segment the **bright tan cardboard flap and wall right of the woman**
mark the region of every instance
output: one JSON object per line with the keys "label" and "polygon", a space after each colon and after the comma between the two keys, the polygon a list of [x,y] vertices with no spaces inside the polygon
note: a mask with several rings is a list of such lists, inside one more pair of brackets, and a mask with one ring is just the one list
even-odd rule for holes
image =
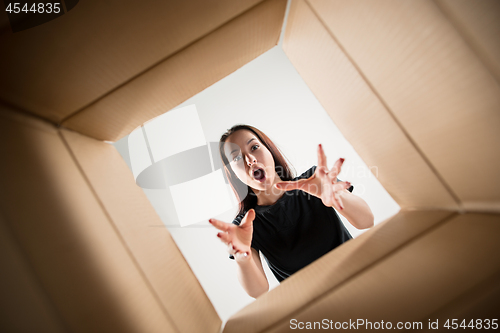
{"label": "bright tan cardboard flap and wall right of the woman", "polygon": [[400,206],[500,211],[500,86],[432,2],[297,1],[284,49]]}

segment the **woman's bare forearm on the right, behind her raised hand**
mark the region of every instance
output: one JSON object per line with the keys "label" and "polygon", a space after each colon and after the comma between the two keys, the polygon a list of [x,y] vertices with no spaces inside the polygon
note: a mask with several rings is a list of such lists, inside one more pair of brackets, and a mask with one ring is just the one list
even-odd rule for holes
{"label": "woman's bare forearm on the right, behind her raised hand", "polygon": [[347,190],[340,192],[344,209],[338,211],[357,229],[370,228],[374,224],[373,213],[368,204]]}

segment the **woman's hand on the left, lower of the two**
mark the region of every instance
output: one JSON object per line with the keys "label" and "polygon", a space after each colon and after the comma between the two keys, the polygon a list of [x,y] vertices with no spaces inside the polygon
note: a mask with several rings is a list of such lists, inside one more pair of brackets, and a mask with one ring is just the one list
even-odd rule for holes
{"label": "woman's hand on the left, lower of the two", "polygon": [[241,220],[239,226],[216,219],[208,221],[221,231],[217,234],[217,237],[223,243],[227,244],[228,252],[234,256],[236,261],[244,262],[250,260],[252,256],[251,244],[254,219],[255,211],[250,209]]}

